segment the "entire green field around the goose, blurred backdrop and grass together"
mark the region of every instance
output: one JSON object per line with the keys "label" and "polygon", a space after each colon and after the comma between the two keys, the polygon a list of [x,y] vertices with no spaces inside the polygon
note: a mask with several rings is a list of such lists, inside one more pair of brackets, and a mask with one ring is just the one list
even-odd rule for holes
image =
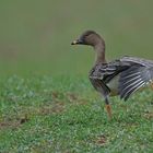
{"label": "entire green field around the goose, blurred backdrop and grass together", "polygon": [[152,153],[153,90],[103,98],[87,79],[94,51],[71,46],[84,30],[107,59],[153,59],[151,0],[0,2],[0,153]]}

